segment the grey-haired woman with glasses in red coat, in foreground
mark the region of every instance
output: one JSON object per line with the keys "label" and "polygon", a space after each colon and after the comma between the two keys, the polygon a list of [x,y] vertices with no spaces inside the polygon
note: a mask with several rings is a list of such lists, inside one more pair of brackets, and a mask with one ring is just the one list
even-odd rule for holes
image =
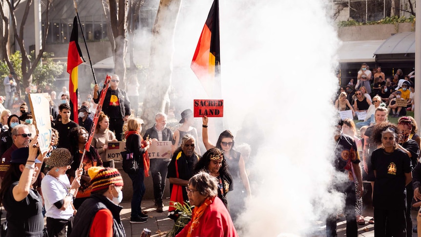
{"label": "grey-haired woman with glasses in red coat, in foreground", "polygon": [[218,195],[216,178],[199,172],[186,187],[191,206],[194,206],[190,222],[176,237],[238,237],[230,214]]}

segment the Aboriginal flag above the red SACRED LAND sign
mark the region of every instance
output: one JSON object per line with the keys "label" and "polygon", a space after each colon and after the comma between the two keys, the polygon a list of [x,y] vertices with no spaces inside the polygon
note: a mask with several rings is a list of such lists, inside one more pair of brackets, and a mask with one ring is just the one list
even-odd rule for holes
{"label": "Aboriginal flag above the red SACRED LAND sign", "polygon": [[214,0],[190,65],[209,95],[220,74],[219,53],[219,3]]}

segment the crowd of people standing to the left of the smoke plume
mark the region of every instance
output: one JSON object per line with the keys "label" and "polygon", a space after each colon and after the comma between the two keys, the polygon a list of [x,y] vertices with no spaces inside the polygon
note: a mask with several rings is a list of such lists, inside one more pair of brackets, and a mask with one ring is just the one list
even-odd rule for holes
{"label": "crowd of people standing to the left of the smoke plume", "polygon": [[[7,211],[7,223],[3,223],[8,227],[7,236],[125,236],[119,206],[123,178],[115,169],[116,161],[105,156],[109,142],[122,140],[138,165],[136,173],[128,173],[133,190],[131,223],[148,219],[141,210],[146,192],[153,192],[156,212],[163,212],[168,178],[171,201],[193,207],[191,222],[174,236],[208,232],[238,236],[232,220],[251,195],[246,161],[252,150],[243,143],[236,151],[231,131],[223,131],[213,145],[208,137],[209,119],[204,117],[201,134],[207,151],[201,152],[197,129],[192,127],[193,112],[186,109],[178,129],[169,129],[167,115],[157,112],[155,124],[143,132],[145,123],[136,116],[137,106],[130,107],[130,100],[137,103],[135,91],[127,94],[118,87],[119,77],[113,75],[89,148],[86,143],[102,93],[100,86],[94,85],[87,100],[78,105],[78,115],[72,114],[66,87],[58,95],[49,86],[38,88],[37,93],[48,93],[52,127],[49,151],[40,153],[29,107],[31,88],[21,98],[14,76],[11,72],[4,79],[6,96],[0,97],[0,202]],[[147,151],[158,141],[171,142],[172,158],[149,159]],[[146,190],[144,183],[149,173],[153,190]],[[168,216],[175,221],[179,215],[169,208]]]}

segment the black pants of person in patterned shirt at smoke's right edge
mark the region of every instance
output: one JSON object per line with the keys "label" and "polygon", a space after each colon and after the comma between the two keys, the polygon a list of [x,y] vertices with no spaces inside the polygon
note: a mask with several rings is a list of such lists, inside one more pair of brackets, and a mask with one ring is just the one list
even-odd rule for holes
{"label": "black pants of person in patterned shirt at smoke's right edge", "polygon": [[[358,236],[358,227],[357,227],[357,218],[355,216],[355,184],[354,182],[347,182],[340,187],[336,187],[338,192],[345,194],[345,208],[344,214],[346,218],[346,236],[347,237],[357,237]],[[377,219],[376,219],[377,223]],[[336,237],[336,214],[330,215],[326,218],[326,236],[327,237]]]}

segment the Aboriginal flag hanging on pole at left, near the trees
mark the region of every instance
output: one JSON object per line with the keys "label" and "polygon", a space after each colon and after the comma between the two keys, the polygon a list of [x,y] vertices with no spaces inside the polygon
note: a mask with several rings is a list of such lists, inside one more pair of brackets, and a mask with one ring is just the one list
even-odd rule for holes
{"label": "Aboriginal flag hanging on pole at left, near the trees", "polygon": [[[78,43],[78,19],[73,19],[73,29],[70,35],[69,51],[67,53],[67,73],[70,74],[69,97],[71,115],[77,119],[78,114],[78,65],[82,64],[82,52]],[[74,119],[72,119],[74,120]]]}

